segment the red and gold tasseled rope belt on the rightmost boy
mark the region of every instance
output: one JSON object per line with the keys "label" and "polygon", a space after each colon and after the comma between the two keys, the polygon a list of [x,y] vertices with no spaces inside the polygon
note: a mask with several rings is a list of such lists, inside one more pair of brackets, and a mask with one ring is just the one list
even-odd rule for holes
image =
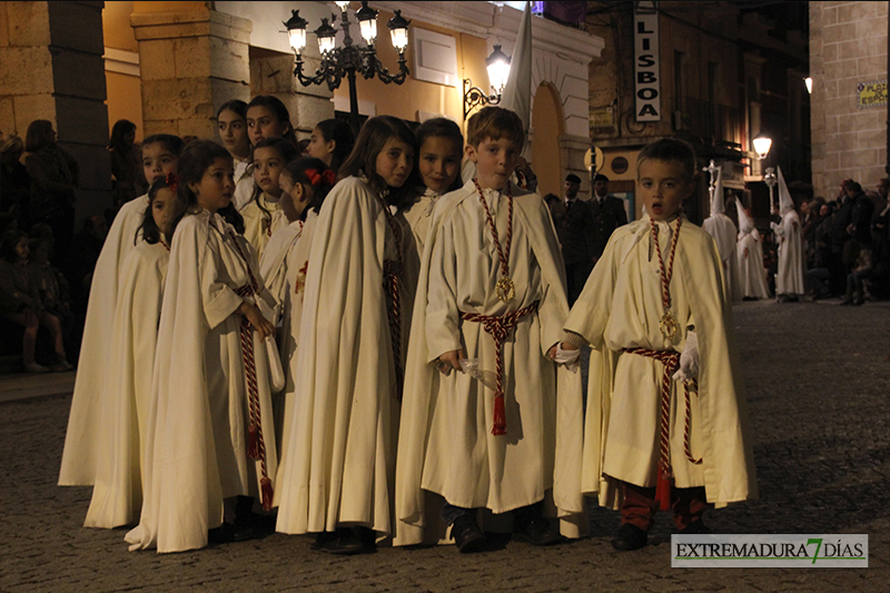
{"label": "red and gold tasseled rope belt on the rightmost boy", "polygon": [[[680,368],[680,353],[673,350],[650,350],[646,348],[624,348],[624,352],[654,358],[664,365],[664,373],[661,377],[661,455],[659,456],[659,477],[655,486],[655,500],[661,502],[662,511],[668,511],[671,508],[671,478],[673,477],[671,471],[671,380],[673,374]],[[694,384],[694,382],[692,383]],[[686,423],[683,434],[683,448],[686,458],[691,463],[699,465],[702,463],[702,459],[701,457],[696,459],[692,456],[689,444],[692,429],[689,383],[683,384],[683,391],[686,397]]]}

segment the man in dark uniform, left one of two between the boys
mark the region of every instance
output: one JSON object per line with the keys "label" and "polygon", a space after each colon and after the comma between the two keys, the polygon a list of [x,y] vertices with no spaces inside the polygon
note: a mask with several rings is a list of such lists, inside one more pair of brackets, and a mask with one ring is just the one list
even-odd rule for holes
{"label": "man in dark uniform, left one of two between the boys", "polygon": [[590,202],[577,198],[581,187],[578,176],[568,174],[563,184],[564,195],[551,205],[556,236],[563,249],[568,305],[574,304],[593,270],[591,257],[593,213]]}

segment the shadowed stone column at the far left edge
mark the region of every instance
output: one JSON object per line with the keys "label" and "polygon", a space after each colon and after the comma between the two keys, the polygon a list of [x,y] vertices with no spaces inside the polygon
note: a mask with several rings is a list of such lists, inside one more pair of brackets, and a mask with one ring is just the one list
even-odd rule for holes
{"label": "shadowed stone column at the far left edge", "polygon": [[78,161],[77,221],[111,205],[102,2],[0,2],[0,130],[52,121]]}

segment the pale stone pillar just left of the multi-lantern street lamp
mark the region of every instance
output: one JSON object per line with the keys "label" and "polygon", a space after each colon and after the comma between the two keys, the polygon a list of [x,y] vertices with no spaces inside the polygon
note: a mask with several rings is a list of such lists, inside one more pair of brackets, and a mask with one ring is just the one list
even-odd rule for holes
{"label": "pale stone pillar just left of the multi-lantern street lamp", "polygon": [[182,2],[180,12],[139,12],[138,4],[150,2],[137,3],[130,17],[139,42],[146,136],[215,138],[219,106],[250,100],[253,23],[204,8],[205,2]]}

